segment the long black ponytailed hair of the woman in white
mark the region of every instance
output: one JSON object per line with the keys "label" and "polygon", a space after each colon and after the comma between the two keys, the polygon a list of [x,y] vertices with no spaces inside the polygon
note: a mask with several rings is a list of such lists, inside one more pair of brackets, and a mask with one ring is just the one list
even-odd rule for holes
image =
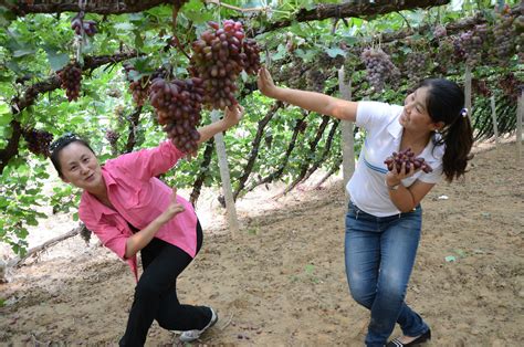
{"label": "long black ponytailed hair of the woman in white", "polygon": [[428,87],[426,106],[431,119],[444,124],[434,144],[446,145],[443,174],[451,182],[464,175],[473,146],[473,129],[468,109],[463,108],[464,93],[457,83],[444,78],[425,80],[419,87]]}

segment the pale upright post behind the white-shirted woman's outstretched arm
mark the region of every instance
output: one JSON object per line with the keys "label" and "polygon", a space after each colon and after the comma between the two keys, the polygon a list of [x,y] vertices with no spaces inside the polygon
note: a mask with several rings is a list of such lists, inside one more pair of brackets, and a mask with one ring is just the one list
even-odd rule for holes
{"label": "pale upright post behind the white-shirted woman's outstretched arm", "polygon": [[[346,101],[352,99],[352,80],[349,78],[346,84],[344,65],[338,70],[338,87],[340,90],[342,98]],[[349,120],[342,122],[342,144],[343,144],[343,175],[344,175],[344,190],[346,191],[346,198],[349,199],[349,194],[346,190],[346,185],[355,172],[355,138],[354,124]]]}

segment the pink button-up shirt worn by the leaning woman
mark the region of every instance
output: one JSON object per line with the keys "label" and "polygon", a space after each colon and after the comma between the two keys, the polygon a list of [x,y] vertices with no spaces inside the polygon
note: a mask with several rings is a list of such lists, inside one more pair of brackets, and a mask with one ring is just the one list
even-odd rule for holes
{"label": "pink button-up shirt worn by the leaning woman", "polygon": [[[125,260],[126,241],[133,235],[127,222],[144,229],[169,204],[171,188],[155,176],[169,170],[185,154],[171,141],[107,160],[102,176],[107,197],[115,209],[103,204],[87,191],[82,193],[80,219],[101,242]],[[197,215],[191,203],[177,196],[186,210],[164,224],[155,238],[174,244],[191,257],[197,249]],[[136,255],[127,260],[138,281]]]}

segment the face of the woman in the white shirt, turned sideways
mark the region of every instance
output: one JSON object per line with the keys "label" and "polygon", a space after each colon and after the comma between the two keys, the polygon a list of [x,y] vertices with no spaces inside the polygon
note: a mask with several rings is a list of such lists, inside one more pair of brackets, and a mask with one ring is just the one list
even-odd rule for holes
{"label": "face of the woman in the white shirt, turned sideways", "polygon": [[420,87],[409,94],[404,102],[404,112],[399,123],[402,127],[413,132],[433,132],[438,125],[429,116],[426,106],[428,87]]}

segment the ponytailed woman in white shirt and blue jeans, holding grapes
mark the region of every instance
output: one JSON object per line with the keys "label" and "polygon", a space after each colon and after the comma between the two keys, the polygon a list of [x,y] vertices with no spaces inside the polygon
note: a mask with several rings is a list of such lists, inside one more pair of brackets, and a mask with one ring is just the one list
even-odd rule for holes
{"label": "ponytailed woman in white shirt and blue jeans, holding grapes", "polygon": [[[277,87],[264,67],[258,83],[269,97],[366,129],[347,185],[345,240],[352,296],[371,314],[366,346],[413,346],[430,339],[429,326],[405,297],[422,225],[420,201],[442,174],[452,181],[465,172],[473,135],[462,90],[448,80],[426,80],[398,106]],[[384,160],[407,148],[433,170],[423,172],[406,164],[397,170],[395,164],[389,171]],[[388,343],[395,323],[404,336]]]}

